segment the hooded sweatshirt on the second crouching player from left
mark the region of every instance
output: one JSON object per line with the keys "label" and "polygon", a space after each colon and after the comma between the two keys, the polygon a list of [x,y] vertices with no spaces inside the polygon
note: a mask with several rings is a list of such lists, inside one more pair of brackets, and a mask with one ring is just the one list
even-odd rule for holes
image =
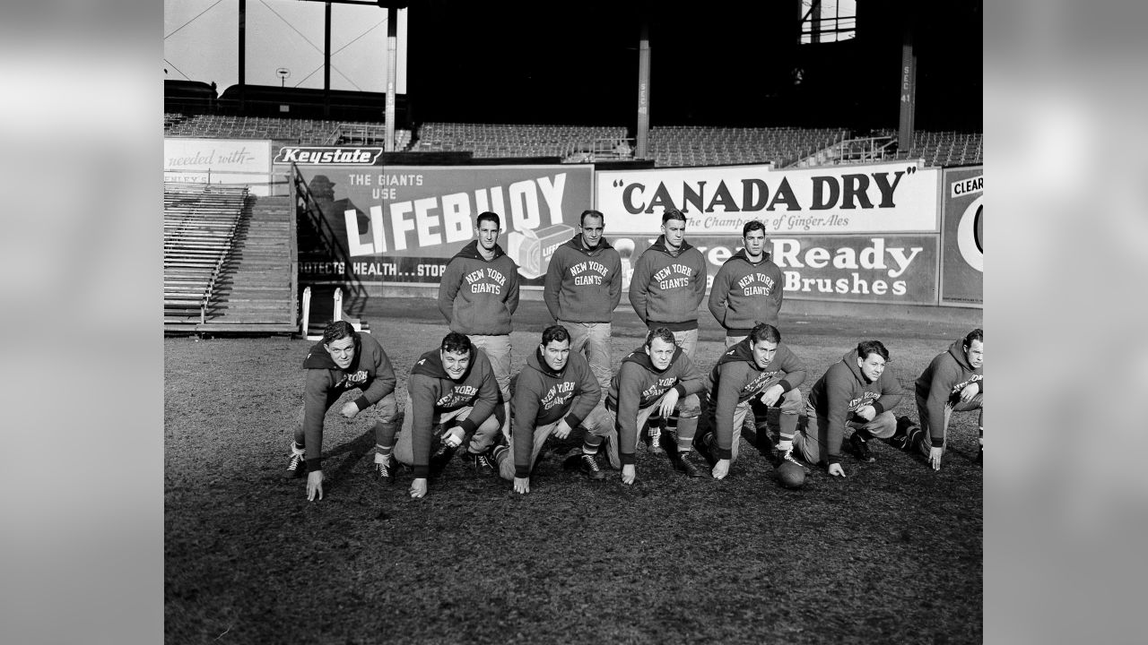
{"label": "hooded sweatshirt on the second crouching player from left", "polygon": [[406,391],[411,395],[413,409],[406,413],[412,415],[411,442],[417,479],[429,474],[430,435],[435,414],[473,405],[474,410],[458,422],[466,434],[471,434],[502,402],[490,359],[479,348],[471,348],[471,363],[457,381],[443,368],[440,350],[433,349],[424,353],[411,367]]}

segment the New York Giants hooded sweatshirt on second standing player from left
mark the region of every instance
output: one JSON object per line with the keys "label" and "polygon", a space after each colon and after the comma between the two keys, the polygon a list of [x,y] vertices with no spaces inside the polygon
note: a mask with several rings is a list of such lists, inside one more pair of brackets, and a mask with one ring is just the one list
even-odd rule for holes
{"label": "New York Giants hooded sweatshirt on second standing player from left", "polygon": [[610,322],[622,298],[622,258],[605,238],[588,249],[575,234],[554,250],[542,298],[554,320]]}

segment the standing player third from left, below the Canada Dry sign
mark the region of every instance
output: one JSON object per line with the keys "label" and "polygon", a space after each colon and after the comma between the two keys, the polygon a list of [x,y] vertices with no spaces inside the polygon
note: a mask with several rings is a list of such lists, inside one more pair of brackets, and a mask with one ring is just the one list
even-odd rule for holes
{"label": "standing player third from left, below the Canada Dry sign", "polygon": [[[693,359],[698,344],[698,305],[706,295],[707,264],[701,251],[685,241],[685,215],[677,209],[661,215],[661,235],[634,264],[630,305],[647,329],[666,327],[677,347]],[[682,419],[697,428],[701,413],[697,395],[678,404]],[[681,421],[680,421],[681,422]],[[650,429],[650,446],[657,450],[658,432]]]}

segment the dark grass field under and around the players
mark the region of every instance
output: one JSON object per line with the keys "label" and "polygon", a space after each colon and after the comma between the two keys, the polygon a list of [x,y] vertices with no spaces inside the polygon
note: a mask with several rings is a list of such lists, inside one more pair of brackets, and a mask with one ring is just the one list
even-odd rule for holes
{"label": "dark grass field under and around the players", "polygon": [[[365,318],[405,391],[447,326],[422,300]],[[813,382],[859,340],[890,349],[908,389],[978,325],[799,319],[783,340]],[[388,312],[401,312],[397,313]],[[614,363],[642,342],[615,312]],[[721,332],[703,311],[697,358]],[[517,373],[546,324],[515,314]],[[168,643],[979,643],[982,469],[976,417],[954,414],[940,472],[871,442],[847,477],[783,489],[743,437],[724,481],[688,480],[639,448],[638,482],[567,471],[552,451],[530,494],[456,459],[421,500],[370,473],[370,423],[332,411],[321,502],[286,480],[311,341],[164,340],[164,631]],[[847,442],[846,442],[847,445]]]}

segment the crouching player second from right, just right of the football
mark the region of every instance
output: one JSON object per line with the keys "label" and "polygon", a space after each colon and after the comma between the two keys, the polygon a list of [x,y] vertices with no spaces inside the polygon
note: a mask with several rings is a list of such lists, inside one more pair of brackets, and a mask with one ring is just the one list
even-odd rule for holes
{"label": "crouching player second from right, just right of the football", "polygon": [[806,427],[793,437],[793,448],[806,461],[824,464],[830,475],[844,477],[845,426],[854,428],[850,443],[858,459],[875,460],[867,440],[893,436],[893,409],[902,395],[887,362],[889,350],[881,341],[862,341],[817,379],[809,390]]}

